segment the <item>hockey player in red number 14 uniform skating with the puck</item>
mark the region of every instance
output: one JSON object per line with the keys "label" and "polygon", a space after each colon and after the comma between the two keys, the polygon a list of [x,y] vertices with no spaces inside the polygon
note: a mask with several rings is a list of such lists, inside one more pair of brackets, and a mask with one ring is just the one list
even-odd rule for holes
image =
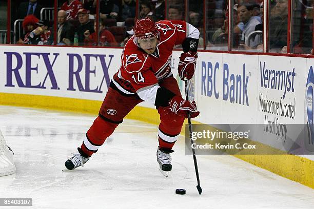
{"label": "hockey player in red number 14 uniform skating with the puck", "polygon": [[99,116],[81,148],[77,148],[78,154],[65,162],[68,170],[83,166],[138,103],[149,101],[156,106],[161,120],[157,161],[161,172],[171,171],[169,153],[173,152],[184,118],[188,113],[191,118],[200,114],[195,101],[182,98],[170,68],[174,46],[182,45],[178,72],[182,80],[191,79],[198,58],[199,30],[181,20],[154,23],[145,18],[136,20],[134,34],[124,47],[122,65],[113,75]]}

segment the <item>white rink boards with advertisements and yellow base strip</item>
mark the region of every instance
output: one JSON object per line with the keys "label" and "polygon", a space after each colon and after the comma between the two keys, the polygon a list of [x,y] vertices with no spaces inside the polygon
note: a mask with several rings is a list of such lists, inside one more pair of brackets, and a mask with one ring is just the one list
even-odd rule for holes
{"label": "white rink boards with advertisements and yellow base strip", "polygon": [[[2,105],[96,114],[112,75],[121,65],[122,49],[0,48]],[[180,53],[173,52],[171,68],[174,77],[178,77],[176,69]],[[191,82],[192,97],[201,112],[195,122],[248,126],[265,121],[306,124],[312,121],[310,116],[314,112],[308,111],[312,103],[310,83],[314,82],[308,76],[313,66],[314,60],[304,57],[199,52],[197,70]],[[180,79],[178,82],[184,95],[184,83]],[[285,109],[265,108],[269,103]],[[159,121],[154,107],[145,102],[128,117],[153,123]],[[270,149],[283,150],[287,146],[288,141],[275,134],[265,136],[260,142],[269,145]],[[237,157],[314,187],[314,157],[307,154]]]}

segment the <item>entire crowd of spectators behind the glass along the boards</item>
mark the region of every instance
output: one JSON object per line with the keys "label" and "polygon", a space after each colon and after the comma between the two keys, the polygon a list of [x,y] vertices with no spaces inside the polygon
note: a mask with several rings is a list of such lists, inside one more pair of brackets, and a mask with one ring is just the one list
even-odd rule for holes
{"label": "entire crowd of spectators behind the glass along the boards", "polygon": [[[262,51],[263,0],[234,0],[232,12],[229,12],[227,0],[206,0],[205,9],[203,0],[190,0],[188,5],[184,5],[184,2],[169,0],[166,5],[164,0],[140,0],[136,13],[135,0],[99,0],[97,35],[94,21],[96,0],[60,0],[56,34],[52,20],[40,19],[41,9],[49,5],[41,5],[44,1],[40,0],[24,1],[15,4],[15,19],[24,19],[24,34],[18,37],[17,44],[51,45],[56,36],[57,45],[123,47],[133,35],[132,27],[137,15],[136,18],[149,17],[155,22],[164,19],[186,20],[200,30],[200,48],[226,50],[228,14],[231,13],[232,49]],[[291,51],[311,53],[313,0],[292,0],[292,9]],[[287,29],[288,0],[269,0],[270,52],[287,52]]]}

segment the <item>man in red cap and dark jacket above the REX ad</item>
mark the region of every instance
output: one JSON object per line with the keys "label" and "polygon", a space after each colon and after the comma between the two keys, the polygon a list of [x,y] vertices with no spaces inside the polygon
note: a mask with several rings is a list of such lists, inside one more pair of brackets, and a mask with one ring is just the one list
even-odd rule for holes
{"label": "man in red cap and dark jacket above the REX ad", "polygon": [[78,45],[82,46],[84,44],[84,33],[89,31],[89,33],[93,33],[94,24],[89,20],[89,11],[86,9],[80,9],[77,12],[78,22],[80,22],[80,26],[77,27],[76,33],[78,35]]}

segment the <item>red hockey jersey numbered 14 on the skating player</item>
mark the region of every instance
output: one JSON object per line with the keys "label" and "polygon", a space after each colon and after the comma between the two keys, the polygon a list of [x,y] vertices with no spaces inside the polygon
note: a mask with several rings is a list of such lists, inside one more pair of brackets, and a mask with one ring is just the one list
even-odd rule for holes
{"label": "red hockey jersey numbered 14 on the skating player", "polygon": [[187,37],[187,23],[181,20],[162,20],[156,23],[160,41],[153,54],[147,54],[132,36],[124,47],[119,71],[113,76],[114,85],[126,94],[156,85],[163,78],[172,75],[170,61],[172,50],[182,45]]}

